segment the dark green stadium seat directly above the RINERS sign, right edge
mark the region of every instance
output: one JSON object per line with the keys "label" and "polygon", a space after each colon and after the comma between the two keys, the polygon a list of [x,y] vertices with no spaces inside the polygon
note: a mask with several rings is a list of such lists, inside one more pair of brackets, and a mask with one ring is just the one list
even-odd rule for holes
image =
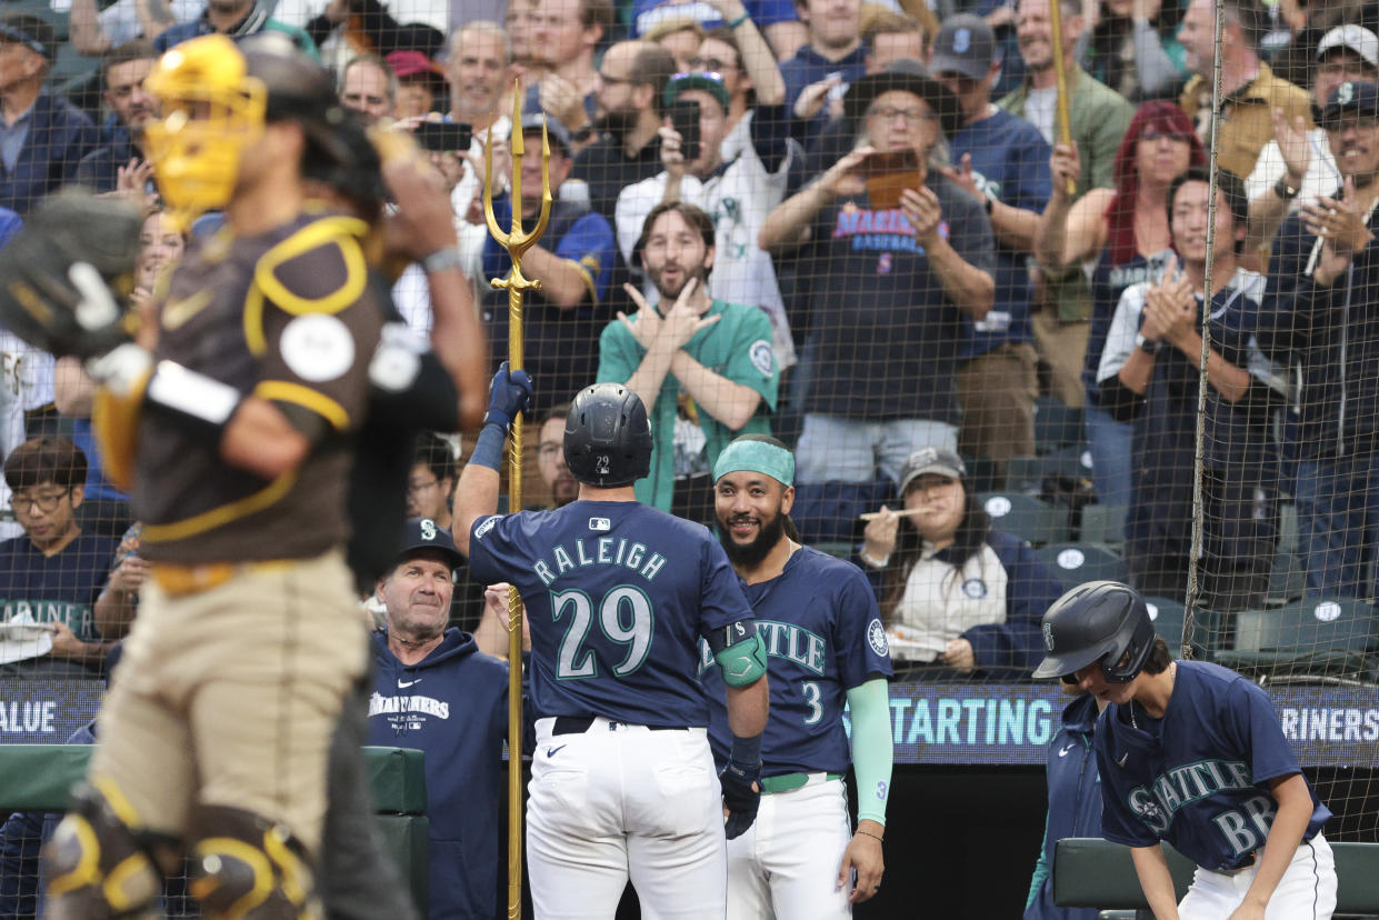
{"label": "dark green stadium seat directly above the RINERS sign, right edge", "polygon": [[1373,681],[1375,608],[1354,599],[1305,599],[1234,617],[1234,641],[1215,659],[1252,677],[1288,683]]}

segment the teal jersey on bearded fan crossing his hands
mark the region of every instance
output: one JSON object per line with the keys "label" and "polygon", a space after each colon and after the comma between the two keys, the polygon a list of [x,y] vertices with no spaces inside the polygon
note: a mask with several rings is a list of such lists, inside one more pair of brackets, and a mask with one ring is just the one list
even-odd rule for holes
{"label": "teal jersey on bearded fan crossing his hands", "polygon": [[[666,302],[666,301],[662,301]],[[656,309],[656,308],[643,308]],[[705,434],[709,469],[718,454],[738,434],[769,434],[767,414],[775,411],[776,388],[781,374],[771,354],[771,323],[756,306],[713,301],[705,319],[720,316],[717,323],[695,332],[684,350],[709,371],[734,383],[749,386],[761,394],[756,414],[738,430],[705,411],[698,410],[699,428]],[[622,321],[610,323],[598,339],[600,383],[626,383],[641,367],[647,349]],[[684,389],[674,372],[667,372],[651,406],[651,474],[637,480],[637,501],[661,510],[670,510],[674,495],[674,428],[680,393]],[[645,396],[643,396],[645,399]]]}

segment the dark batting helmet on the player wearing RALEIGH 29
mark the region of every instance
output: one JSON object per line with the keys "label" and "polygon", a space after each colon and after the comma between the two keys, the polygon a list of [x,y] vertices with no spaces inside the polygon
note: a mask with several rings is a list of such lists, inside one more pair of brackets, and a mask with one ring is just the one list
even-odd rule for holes
{"label": "dark batting helmet on the player wearing RALEIGH 29", "polygon": [[627,486],[651,472],[651,422],[621,383],[585,388],[565,417],[565,466],[581,483]]}

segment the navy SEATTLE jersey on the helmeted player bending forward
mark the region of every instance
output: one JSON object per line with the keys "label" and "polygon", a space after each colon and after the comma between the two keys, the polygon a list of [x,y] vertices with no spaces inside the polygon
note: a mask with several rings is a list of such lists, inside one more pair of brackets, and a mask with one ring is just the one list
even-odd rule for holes
{"label": "navy SEATTLE jersey on the helmeted player bending forward", "polygon": [[[1269,781],[1300,774],[1265,691],[1233,670],[1178,662],[1162,719],[1111,703],[1096,723],[1102,834],[1131,847],[1167,840],[1204,869],[1234,869],[1265,846]],[[1331,811],[1311,793],[1311,840]]]}

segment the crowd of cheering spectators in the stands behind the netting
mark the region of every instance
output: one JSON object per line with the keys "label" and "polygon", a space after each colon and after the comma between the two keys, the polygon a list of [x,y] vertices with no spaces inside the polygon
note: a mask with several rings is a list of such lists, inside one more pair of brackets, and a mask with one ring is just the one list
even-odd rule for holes
{"label": "crowd of cheering spectators in the stands behind the netting", "polygon": [[[1125,509],[1103,539],[1140,590],[1182,600],[1196,566],[1196,603],[1259,608],[1288,530],[1310,594],[1379,597],[1372,4],[8,6],[0,246],[65,186],[125,197],[148,215],[131,297],[149,314],[218,228],[164,223],[145,146],[143,77],[189,37],[281,32],[335,72],[345,106],[414,134],[445,179],[495,366],[507,294],[488,281],[512,261],[485,197],[499,226],[531,226],[545,172],[554,203],[523,261],[541,281],[524,335],[536,505],[574,498],[560,419],[594,381],[648,407],[638,498],[691,520],[713,521],[728,440],[772,433],[797,454],[803,538],[869,572],[896,650],[1019,673],[1076,575],[979,497],[1048,452],[1040,414],[1063,407],[1095,503]],[[393,298],[429,330],[419,266]],[[0,669],[92,669],[132,617],[137,524],[81,368],[4,332],[0,353],[0,619],[52,623],[28,640],[41,654],[0,643]],[[410,514],[450,526],[459,457],[454,436],[418,444]],[[455,619],[492,626],[487,596],[458,588]]]}

